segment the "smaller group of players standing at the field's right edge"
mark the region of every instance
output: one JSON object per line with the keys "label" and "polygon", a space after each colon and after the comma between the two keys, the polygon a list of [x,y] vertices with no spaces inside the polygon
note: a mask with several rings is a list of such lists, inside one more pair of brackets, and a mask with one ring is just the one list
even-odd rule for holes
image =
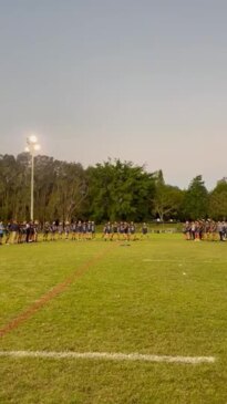
{"label": "smaller group of players standing at the field's right edge", "polygon": [[183,229],[186,240],[227,240],[227,221],[215,221],[211,219],[186,221]]}

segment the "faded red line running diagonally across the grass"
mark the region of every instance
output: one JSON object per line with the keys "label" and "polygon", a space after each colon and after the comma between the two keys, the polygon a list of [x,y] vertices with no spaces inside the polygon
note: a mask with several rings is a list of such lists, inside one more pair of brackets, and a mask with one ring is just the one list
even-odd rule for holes
{"label": "faded red line running diagonally across the grass", "polygon": [[56,296],[63,293],[63,291],[69,288],[76,279],[81,278],[91,267],[93,267],[97,261],[100,261],[111,249],[112,247],[109,247],[107,249],[102,251],[102,253],[99,253],[95,257],[92,257],[87,262],[83,263],[81,267],[79,267],[69,278],[66,278],[63,282],[58,283],[55,287],[53,287],[51,290],[49,290],[45,294],[43,294],[40,299],[38,299],[33,304],[31,304],[25,311],[20,313],[18,317],[16,317],[13,320],[11,320],[9,323],[3,325],[0,329],[0,336],[4,336],[10,331],[16,330],[21,323],[29,320],[38,310],[40,310],[43,305],[49,303],[52,299],[54,299]]}

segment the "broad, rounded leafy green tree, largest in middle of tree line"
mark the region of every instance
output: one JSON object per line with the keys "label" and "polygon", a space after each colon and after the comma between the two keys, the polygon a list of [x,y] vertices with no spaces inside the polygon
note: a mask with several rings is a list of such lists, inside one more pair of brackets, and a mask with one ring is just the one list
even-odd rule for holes
{"label": "broad, rounded leafy green tree, largest in middle of tree line", "polygon": [[142,220],[148,217],[154,178],[144,167],[120,159],[87,168],[90,214],[94,219]]}

